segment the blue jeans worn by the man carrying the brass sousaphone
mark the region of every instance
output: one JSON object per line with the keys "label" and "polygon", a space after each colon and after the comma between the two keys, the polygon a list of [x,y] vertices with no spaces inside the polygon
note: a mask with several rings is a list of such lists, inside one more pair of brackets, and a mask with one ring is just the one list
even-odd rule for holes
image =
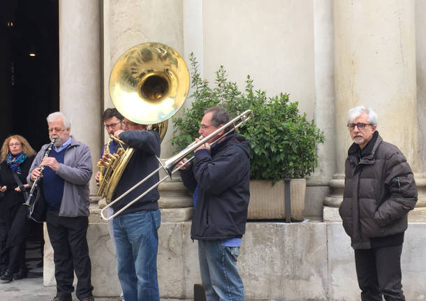
{"label": "blue jeans worn by the man carrying the brass sousaphone", "polygon": [[113,223],[118,278],[124,299],[160,300],[156,267],[160,210],[119,215]]}

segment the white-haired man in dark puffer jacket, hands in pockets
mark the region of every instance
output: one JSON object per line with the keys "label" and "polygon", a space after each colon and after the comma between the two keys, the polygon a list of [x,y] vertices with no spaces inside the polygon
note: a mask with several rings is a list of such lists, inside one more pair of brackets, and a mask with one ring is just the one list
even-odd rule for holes
{"label": "white-haired man in dark puffer jacket, hands in pockets", "polygon": [[402,152],[376,131],[372,109],[349,110],[347,126],[354,143],[345,163],[339,213],[355,249],[361,300],[405,300],[401,252],[407,214],[417,201],[413,172]]}

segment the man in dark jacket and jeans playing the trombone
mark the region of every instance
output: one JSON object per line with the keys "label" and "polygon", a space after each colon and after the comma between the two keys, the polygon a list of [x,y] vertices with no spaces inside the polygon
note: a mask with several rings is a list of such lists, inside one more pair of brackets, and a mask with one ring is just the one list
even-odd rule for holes
{"label": "man in dark jacket and jeans playing the trombone", "polygon": [[[229,120],[223,108],[210,108],[198,133],[207,137]],[[244,300],[237,256],[250,198],[250,149],[244,137],[235,133],[221,137],[225,132],[198,147],[191,166],[184,166],[181,172],[184,185],[194,193],[191,238],[198,240],[201,279],[208,301]],[[218,141],[210,145],[214,140]]]}

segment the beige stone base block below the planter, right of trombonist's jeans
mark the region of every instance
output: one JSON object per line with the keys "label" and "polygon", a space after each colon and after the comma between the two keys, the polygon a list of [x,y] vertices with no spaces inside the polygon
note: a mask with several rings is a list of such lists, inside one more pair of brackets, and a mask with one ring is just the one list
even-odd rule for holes
{"label": "beige stone base block below the planter, right of trombonist's jeans", "polygon": [[326,242],[325,223],[247,223],[238,258],[246,298],[324,300]]}

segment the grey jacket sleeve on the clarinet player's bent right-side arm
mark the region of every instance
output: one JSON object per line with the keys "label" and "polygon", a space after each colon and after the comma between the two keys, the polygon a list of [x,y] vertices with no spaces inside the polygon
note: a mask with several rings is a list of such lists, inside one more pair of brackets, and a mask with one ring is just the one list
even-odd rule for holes
{"label": "grey jacket sleeve on the clarinet player's bent right-side arm", "polygon": [[89,182],[91,178],[91,155],[87,145],[80,144],[78,147],[80,149],[78,149],[78,152],[75,154],[75,166],[59,163],[57,175],[67,182],[71,182],[75,185],[82,185]]}

